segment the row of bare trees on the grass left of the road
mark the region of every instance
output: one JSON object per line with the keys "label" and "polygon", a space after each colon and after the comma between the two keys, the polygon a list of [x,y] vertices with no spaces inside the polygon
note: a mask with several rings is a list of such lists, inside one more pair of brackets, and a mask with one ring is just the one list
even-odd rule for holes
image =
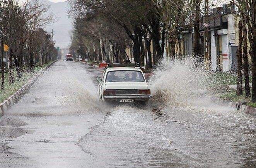
{"label": "row of bare trees on the grass left of the road", "polygon": [[27,0],[22,4],[16,0],[0,0],[0,41],[2,59],[2,83],[4,89],[3,45],[9,46],[9,83],[14,83],[13,65],[17,71],[17,80],[22,78],[23,68],[34,70],[35,63],[47,63],[56,59],[58,52],[54,48],[51,36],[43,27],[54,22],[48,12],[49,6],[39,0]]}

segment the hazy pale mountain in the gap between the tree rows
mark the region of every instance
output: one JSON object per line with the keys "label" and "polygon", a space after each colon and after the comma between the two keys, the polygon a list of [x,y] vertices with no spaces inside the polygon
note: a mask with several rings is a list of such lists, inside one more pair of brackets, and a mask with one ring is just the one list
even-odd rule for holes
{"label": "hazy pale mountain in the gap between the tree rows", "polygon": [[51,34],[53,30],[53,40],[56,47],[68,47],[70,44],[69,32],[72,30],[72,20],[67,16],[67,2],[51,2],[42,0],[45,4],[50,5],[49,12],[56,15],[57,20],[51,25],[47,25],[45,30]]}

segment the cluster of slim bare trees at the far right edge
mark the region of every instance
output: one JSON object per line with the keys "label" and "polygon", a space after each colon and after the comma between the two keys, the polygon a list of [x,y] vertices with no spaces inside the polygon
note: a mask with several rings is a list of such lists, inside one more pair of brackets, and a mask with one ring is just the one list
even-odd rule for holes
{"label": "cluster of slim bare trees at the far right edge", "polygon": [[[242,60],[244,67],[245,93],[246,98],[256,102],[256,0],[232,0],[240,14],[239,21],[239,46],[237,50],[237,95],[242,95]],[[252,95],[249,86],[248,73],[248,46],[252,61]]]}

